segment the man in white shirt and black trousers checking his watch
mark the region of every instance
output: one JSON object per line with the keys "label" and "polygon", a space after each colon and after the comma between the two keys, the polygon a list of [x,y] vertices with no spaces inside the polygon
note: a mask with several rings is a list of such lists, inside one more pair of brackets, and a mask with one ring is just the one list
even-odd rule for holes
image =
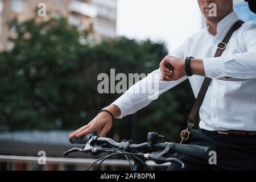
{"label": "man in white shirt and black trousers checking his watch", "polygon": [[[195,97],[204,77],[212,78],[200,107],[200,131],[192,133],[191,143],[212,146],[217,154],[216,169],[256,169],[256,24],[243,23],[233,33],[221,57],[214,57],[218,44],[230,27],[239,20],[233,11],[232,0],[197,0],[204,14],[205,28],[190,36],[171,56],[166,56],[160,68],[151,74],[161,76],[159,94],[189,78]],[[209,5],[217,5],[217,15],[209,15]],[[184,25],[184,28],[189,28]],[[186,76],[185,57],[192,56],[193,76]],[[135,84],[129,90],[138,87]],[[114,118],[135,113],[150,104],[147,94],[126,92],[106,110]],[[98,114],[92,121],[71,133],[70,138],[81,137],[100,131],[104,137],[112,127],[112,115],[107,111]],[[225,131],[246,131],[239,134]],[[180,155],[185,163],[183,170],[212,169],[208,160]],[[170,170],[181,170],[171,164]]]}

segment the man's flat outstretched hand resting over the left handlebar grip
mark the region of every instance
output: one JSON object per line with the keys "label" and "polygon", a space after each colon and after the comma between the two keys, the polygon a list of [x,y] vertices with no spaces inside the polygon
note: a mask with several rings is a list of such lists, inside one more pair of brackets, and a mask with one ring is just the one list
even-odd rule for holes
{"label": "man's flat outstretched hand resting over the left handlebar grip", "polygon": [[[115,118],[120,115],[120,110],[115,105],[110,105],[104,109],[112,112]],[[112,116],[109,113],[102,111],[87,125],[82,126],[80,129],[69,134],[69,138],[80,138],[84,135],[93,133],[94,131],[100,132],[98,135],[99,137],[105,137],[109,130],[112,128],[112,122]]]}

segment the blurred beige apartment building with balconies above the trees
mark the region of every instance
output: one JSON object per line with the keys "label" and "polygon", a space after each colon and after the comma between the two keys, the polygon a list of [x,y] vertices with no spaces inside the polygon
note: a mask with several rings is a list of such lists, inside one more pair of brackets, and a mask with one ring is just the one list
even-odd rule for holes
{"label": "blurred beige apartment building with balconies above the trees", "polygon": [[[46,17],[36,13],[39,3],[46,5]],[[41,19],[64,16],[79,30],[91,32],[96,42],[114,38],[116,8],[116,0],[0,0],[0,50],[12,47],[8,37],[13,30],[9,30],[7,22],[14,17],[22,22],[36,16]]]}

